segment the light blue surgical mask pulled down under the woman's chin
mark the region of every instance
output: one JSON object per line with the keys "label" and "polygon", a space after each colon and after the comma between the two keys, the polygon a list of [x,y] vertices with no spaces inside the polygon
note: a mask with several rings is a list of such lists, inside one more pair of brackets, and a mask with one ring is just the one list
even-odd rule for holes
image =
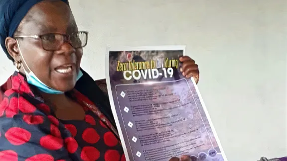
{"label": "light blue surgical mask pulled down under the woman's chin", "polygon": [[[29,73],[25,70],[25,68],[23,67],[24,69],[24,72],[25,72],[25,75],[26,75],[26,79],[28,81],[29,84],[32,84],[34,86],[36,86],[39,90],[41,90],[42,92],[45,92],[45,93],[49,93],[49,94],[63,94],[64,91],[60,91],[60,90],[56,90],[56,89],[53,89],[51,87],[49,87],[48,85],[44,84],[41,80],[39,80],[37,78],[37,76],[29,69],[22,53],[21,53],[21,50],[20,50],[20,46],[19,46],[19,42],[18,40],[17,41],[17,44],[18,44],[18,49],[19,49],[19,52],[20,52],[20,55],[22,57],[22,60],[23,62],[25,63],[25,66],[28,68],[28,70],[30,71]],[[77,76],[77,81],[83,76],[83,73],[82,71],[80,70],[79,73],[78,73],[78,76]]]}

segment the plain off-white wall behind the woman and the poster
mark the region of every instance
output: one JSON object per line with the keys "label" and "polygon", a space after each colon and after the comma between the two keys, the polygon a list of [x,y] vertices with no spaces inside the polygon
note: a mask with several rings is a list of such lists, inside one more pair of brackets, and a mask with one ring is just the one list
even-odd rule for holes
{"label": "plain off-white wall behind the woman and the poster", "polygon": [[[82,67],[105,78],[109,45],[186,45],[229,161],[287,156],[286,0],[70,0],[90,31]],[[0,83],[13,67],[0,54]]]}

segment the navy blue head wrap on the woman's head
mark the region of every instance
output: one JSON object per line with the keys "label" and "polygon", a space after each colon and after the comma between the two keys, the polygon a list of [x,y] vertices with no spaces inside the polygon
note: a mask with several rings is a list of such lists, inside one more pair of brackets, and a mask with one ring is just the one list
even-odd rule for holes
{"label": "navy blue head wrap on the woman's head", "polygon": [[[13,58],[6,49],[5,39],[13,37],[24,16],[40,1],[43,0],[0,0],[0,44],[10,60]],[[68,0],[62,1],[69,5]]]}

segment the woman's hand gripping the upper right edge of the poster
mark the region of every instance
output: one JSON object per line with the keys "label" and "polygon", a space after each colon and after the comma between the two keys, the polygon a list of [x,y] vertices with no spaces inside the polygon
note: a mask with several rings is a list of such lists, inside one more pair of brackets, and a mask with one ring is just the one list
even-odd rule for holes
{"label": "woman's hand gripping the upper right edge of the poster", "polygon": [[197,84],[199,80],[199,70],[198,65],[195,64],[195,61],[189,56],[182,56],[179,58],[179,61],[182,63],[182,66],[180,68],[180,72],[182,73],[182,75],[187,79],[193,77]]}

